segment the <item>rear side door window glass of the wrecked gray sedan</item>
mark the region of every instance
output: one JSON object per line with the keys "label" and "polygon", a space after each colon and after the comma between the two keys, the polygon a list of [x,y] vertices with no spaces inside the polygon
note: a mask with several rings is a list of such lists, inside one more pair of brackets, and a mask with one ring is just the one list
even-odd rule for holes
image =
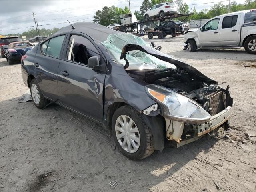
{"label": "rear side door window glass of the wrecked gray sedan", "polygon": [[65,35],[54,37],[42,44],[42,52],[46,55],[60,58],[60,51]]}

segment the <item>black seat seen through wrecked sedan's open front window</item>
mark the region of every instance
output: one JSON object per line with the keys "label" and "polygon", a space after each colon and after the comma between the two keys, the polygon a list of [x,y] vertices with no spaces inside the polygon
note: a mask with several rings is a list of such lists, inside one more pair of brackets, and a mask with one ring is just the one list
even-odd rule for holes
{"label": "black seat seen through wrecked sedan's open front window", "polygon": [[88,64],[88,50],[85,45],[76,43],[73,47],[72,60],[75,62]]}

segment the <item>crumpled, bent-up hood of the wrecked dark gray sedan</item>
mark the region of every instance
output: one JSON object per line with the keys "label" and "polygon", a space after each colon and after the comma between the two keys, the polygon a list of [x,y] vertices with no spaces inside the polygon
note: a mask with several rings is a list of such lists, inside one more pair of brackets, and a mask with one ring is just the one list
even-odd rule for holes
{"label": "crumpled, bent-up hood of the wrecked dark gray sedan", "polygon": [[185,70],[189,74],[192,74],[196,76],[198,79],[208,82],[211,84],[218,84],[215,80],[212,80],[211,78],[208,78],[206,75],[202,74],[200,71],[198,71],[196,68],[186,64],[185,62],[178,60],[168,54],[164,54],[156,49],[152,49],[148,46],[144,45],[136,45],[136,44],[127,44],[122,48],[122,53],[120,56],[120,59],[126,59],[126,53],[128,51],[134,51],[134,50],[140,50],[142,52],[145,52],[147,54],[150,54],[152,56],[155,56],[156,58],[169,62],[171,64],[174,64],[176,67],[180,68],[181,70]]}

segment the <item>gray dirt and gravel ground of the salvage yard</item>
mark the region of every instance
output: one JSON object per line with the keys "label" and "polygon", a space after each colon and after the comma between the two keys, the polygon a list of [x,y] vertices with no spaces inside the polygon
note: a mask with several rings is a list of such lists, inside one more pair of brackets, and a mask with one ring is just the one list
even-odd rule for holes
{"label": "gray dirt and gravel ground of the salvage yard", "polygon": [[229,138],[220,129],[216,138],[129,160],[100,125],[58,105],[18,103],[28,90],[20,64],[0,58],[0,191],[255,192],[256,56],[243,49],[187,52],[182,38],[153,41],[230,85],[236,108]]}

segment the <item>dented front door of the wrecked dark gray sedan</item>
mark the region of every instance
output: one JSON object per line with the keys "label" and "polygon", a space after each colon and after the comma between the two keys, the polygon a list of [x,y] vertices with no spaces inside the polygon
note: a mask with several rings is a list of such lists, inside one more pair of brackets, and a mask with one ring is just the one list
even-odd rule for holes
{"label": "dented front door of the wrecked dark gray sedan", "polygon": [[102,122],[105,74],[88,67],[91,56],[100,58],[93,42],[84,36],[70,36],[66,59],[58,69],[58,102]]}

